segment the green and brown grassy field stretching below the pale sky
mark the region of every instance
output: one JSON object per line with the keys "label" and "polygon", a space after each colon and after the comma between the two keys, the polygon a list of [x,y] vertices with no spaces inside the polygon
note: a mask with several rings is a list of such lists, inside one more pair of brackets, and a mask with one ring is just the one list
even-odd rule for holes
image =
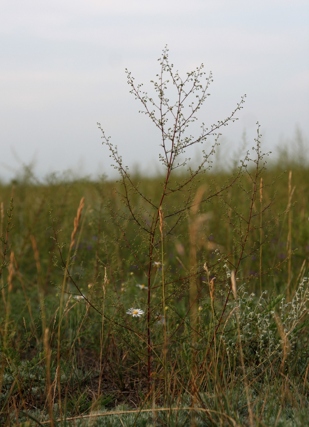
{"label": "green and brown grassy field stretching below the pale sky", "polygon": [[284,166],[171,192],[150,269],[164,178],[130,208],[123,182],[2,184],[1,425],[308,425],[309,168]]}

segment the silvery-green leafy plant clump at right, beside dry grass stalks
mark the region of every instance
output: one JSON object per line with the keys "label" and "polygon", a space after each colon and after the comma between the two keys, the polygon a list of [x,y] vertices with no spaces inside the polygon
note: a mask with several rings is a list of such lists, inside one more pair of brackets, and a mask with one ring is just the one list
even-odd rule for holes
{"label": "silvery-green leafy plant clump at right, beside dry grass stalks", "polygon": [[[229,327],[226,326],[223,333],[226,349],[229,354],[237,351],[236,310],[239,310],[245,360],[254,360],[255,366],[273,361],[281,363],[291,354],[295,345],[299,345],[299,332],[309,323],[305,319],[308,313],[309,280],[303,278],[291,302],[286,302],[285,295],[271,296],[267,301],[267,291],[262,292],[255,301],[255,295],[248,295],[245,289],[246,284],[241,284],[238,301],[229,303]],[[279,315],[274,310],[279,310]],[[255,366],[251,366],[251,369],[255,370]]]}

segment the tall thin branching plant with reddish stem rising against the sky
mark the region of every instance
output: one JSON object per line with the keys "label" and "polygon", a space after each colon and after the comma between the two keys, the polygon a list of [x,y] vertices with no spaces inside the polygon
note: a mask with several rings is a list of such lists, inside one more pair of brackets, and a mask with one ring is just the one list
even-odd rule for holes
{"label": "tall thin branching plant with reddish stem rising against the sky", "polygon": [[[258,214],[260,215],[258,218],[260,218],[261,212],[267,208],[265,206],[262,207],[261,211],[258,213],[255,208],[255,200],[258,193],[258,177],[264,167],[264,164],[261,164],[263,155],[260,152],[259,135],[256,140],[256,157],[250,159],[249,153],[247,153],[238,171],[232,175],[232,178],[230,178],[223,187],[215,187],[215,189],[212,191],[210,190],[208,194],[203,194],[202,197],[199,197],[199,200],[195,199],[196,183],[198,182],[199,175],[204,173],[211,166],[211,155],[214,154],[219,144],[218,138],[220,136],[220,128],[237,120],[235,114],[238,110],[243,108],[246,95],[241,97],[236,108],[226,119],[219,120],[217,123],[208,127],[202,122],[200,134],[193,136],[190,133],[190,126],[197,120],[196,114],[209,96],[208,88],[212,82],[212,74],[209,73],[209,75],[206,76],[205,72],[203,72],[203,64],[201,64],[195,70],[187,72],[185,78],[182,78],[178,71],[175,72],[173,70],[173,65],[169,62],[168,49],[166,47],[159,61],[160,72],[157,74],[157,79],[151,81],[155,91],[155,97],[151,97],[147,92],[143,91],[142,84],[136,85],[134,78],[131,76],[131,72],[126,70],[128,84],[131,87],[131,94],[142,104],[142,110],[140,112],[146,114],[154,126],[160,131],[161,152],[159,156],[160,162],[164,166],[165,173],[160,196],[157,199],[155,199],[154,195],[144,194],[140,189],[140,185],[134,182],[134,178],[131,177],[128,167],[125,167],[123,164],[122,157],[119,155],[117,147],[110,142],[110,137],[105,135],[101,124],[98,123],[99,129],[101,129],[103,134],[103,144],[110,150],[110,157],[113,159],[113,167],[119,171],[120,182],[122,184],[122,190],[118,192],[118,195],[125,208],[117,210],[111,206],[113,219],[116,221],[116,225],[119,227],[121,234],[119,241],[122,240],[122,245],[124,243],[124,246],[128,249],[129,256],[131,255],[132,260],[137,264],[139,269],[143,271],[148,282],[148,296],[146,301],[148,388],[150,388],[152,374],[151,359],[154,346],[151,338],[152,316],[157,318],[158,312],[161,313],[161,310],[162,312],[164,311],[166,315],[166,301],[171,295],[176,295],[175,290],[170,290],[170,292],[166,293],[168,285],[172,283],[175,284],[175,282],[180,284],[188,282],[192,289],[186,315],[181,318],[181,322],[180,324],[178,323],[177,328],[173,331],[169,331],[169,338],[175,334],[182,324],[187,323],[186,318],[194,312],[198,298],[202,295],[202,289],[194,290],[193,284],[191,283],[192,278],[194,281],[196,275],[201,274],[203,270],[203,268],[200,269],[198,266],[193,267],[195,271],[190,271],[186,276],[180,276],[177,280],[170,282],[168,282],[167,276],[162,274],[162,283],[160,283],[160,285],[154,283],[154,276],[157,278],[157,272],[153,268],[154,260],[157,257],[157,252],[160,250],[162,250],[161,255],[163,260],[163,241],[174,238],[177,235],[177,227],[181,224],[181,221],[188,216],[189,212],[192,211],[192,209],[194,210],[194,207],[197,205],[203,207],[205,202],[209,202],[214,197],[220,197],[225,206],[230,224],[236,227],[236,223],[241,223],[242,227],[240,230],[240,242],[234,245],[234,258],[238,257],[238,259],[234,259],[233,262],[231,262],[231,266],[237,271],[241,259],[244,256],[248,235],[253,231],[253,229],[251,229],[251,220]],[[188,151],[192,149],[193,146],[200,146],[209,137],[213,137],[213,142],[208,150],[201,148],[200,163],[194,168],[189,167],[187,169],[186,165],[190,160],[187,157]],[[250,163],[251,160],[256,167],[256,172],[254,173],[250,171],[250,167],[247,164]],[[184,170],[187,169],[187,173],[185,175],[179,175],[177,172],[180,168]],[[251,182],[249,182],[249,189],[245,188],[246,184],[243,182],[244,173],[247,173],[251,180]],[[241,215],[236,208],[232,207],[230,201],[226,199],[226,195],[228,194],[227,190],[236,182],[238,182],[241,189],[245,191],[246,196],[250,198],[249,214],[247,217]],[[172,195],[175,196],[175,193],[179,196],[178,205],[171,206],[169,204],[169,198]],[[136,200],[140,203],[139,207],[137,206]],[[231,209],[231,214],[228,212],[229,208]],[[245,229],[243,229],[243,222],[246,223],[247,228]],[[130,228],[132,233],[128,233],[128,228]],[[130,239],[129,236],[132,234],[134,237]],[[231,255],[232,252],[224,255],[224,259],[231,260]],[[164,272],[163,265],[162,272]],[[163,297],[156,305],[155,297],[157,297],[159,288],[163,291]],[[205,288],[205,286],[203,286],[203,288]],[[215,333],[220,328],[230,290],[231,288],[228,289],[222,313],[217,316],[218,322]],[[205,290],[203,292],[205,292]],[[176,310],[175,307],[173,310]],[[163,321],[167,321],[165,316]],[[164,333],[166,334],[165,325]],[[194,325],[192,328],[196,331]],[[166,348],[166,336],[164,341],[164,347]],[[165,357],[164,360],[166,360]]]}

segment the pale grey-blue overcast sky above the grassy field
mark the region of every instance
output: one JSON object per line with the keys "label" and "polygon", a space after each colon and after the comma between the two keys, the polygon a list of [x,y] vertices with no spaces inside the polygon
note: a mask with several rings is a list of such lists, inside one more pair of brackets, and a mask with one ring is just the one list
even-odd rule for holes
{"label": "pale grey-blue overcast sky above the grassy field", "polygon": [[244,149],[244,132],[254,145],[257,121],[264,151],[293,152],[297,130],[308,151],[308,22],[307,0],[1,2],[0,179],[25,166],[40,179],[113,177],[97,122],[131,172],[160,170],[160,133],[139,114],[125,69],[152,93],[165,45],[181,76],[201,63],[213,73],[198,123],[226,118],[247,95],[221,131],[221,162]]}

